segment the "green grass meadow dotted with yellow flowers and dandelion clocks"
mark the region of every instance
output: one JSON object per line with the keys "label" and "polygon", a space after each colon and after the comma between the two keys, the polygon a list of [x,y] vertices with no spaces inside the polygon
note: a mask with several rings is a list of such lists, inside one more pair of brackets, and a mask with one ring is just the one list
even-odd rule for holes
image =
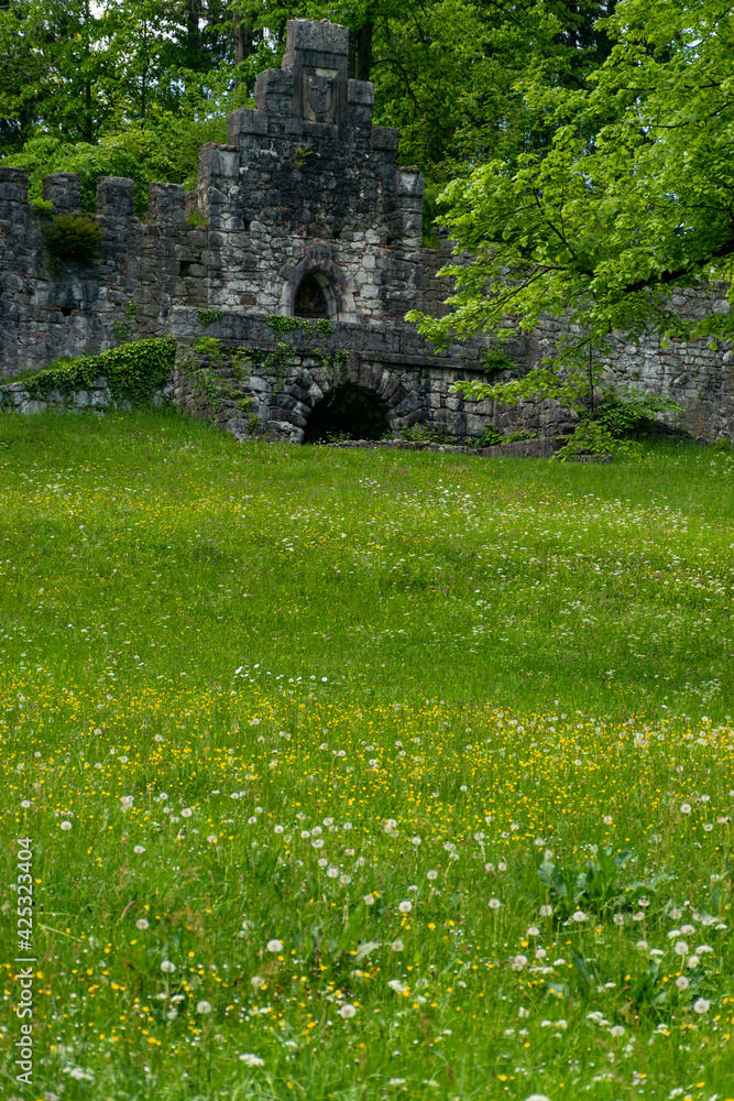
{"label": "green grass meadow dotted with yellow flowers and dandelion clocks", "polygon": [[2,1097],[734,1098],[733,547],[693,445],[0,419]]}

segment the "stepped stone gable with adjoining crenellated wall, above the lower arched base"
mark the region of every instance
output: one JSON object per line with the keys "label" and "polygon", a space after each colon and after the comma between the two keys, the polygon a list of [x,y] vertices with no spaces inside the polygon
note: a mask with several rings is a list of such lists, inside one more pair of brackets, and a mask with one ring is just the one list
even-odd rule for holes
{"label": "stepped stone gable with adjoining crenellated wall, above the lower arched base", "polygon": [[[167,335],[176,305],[293,316],[309,276],[335,321],[407,328],[412,307],[442,308],[446,257],[421,247],[423,176],[395,165],[397,131],[372,124],[373,86],[347,79],[347,43],[344,28],[289,22],[284,67],[259,75],[230,144],[201,149],[193,192],[151,184],[144,220],[131,179],[101,178],[95,263],[52,270],[26,173],[0,166],[0,379],[106,350],[130,303],[134,337]],[[79,177],[46,177],[44,198],[78,211]]]}

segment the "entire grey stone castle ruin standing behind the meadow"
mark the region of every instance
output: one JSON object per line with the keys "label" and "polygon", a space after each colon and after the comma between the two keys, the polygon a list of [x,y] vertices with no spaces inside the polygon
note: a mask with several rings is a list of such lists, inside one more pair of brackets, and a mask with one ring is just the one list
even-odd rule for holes
{"label": "entire grey stone castle ruin standing behind the meadow", "polygon": [[[213,412],[240,437],[308,439],[347,390],[393,433],[420,426],[465,444],[489,426],[569,430],[554,402],[502,410],[454,395],[457,380],[483,375],[486,342],[438,351],[404,320],[409,309],[446,309],[451,288],[438,271],[451,248],[423,247],[423,177],[396,165],[397,131],[373,124],[373,85],[348,78],[348,50],[346,28],[291,21],[282,68],[259,75],[255,107],[230,116],[228,144],[201,149],[197,187],[151,184],[143,219],[131,179],[101,178],[103,242],[92,263],[53,270],[26,174],[0,166],[0,379],[111,348],[121,331],[173,336],[168,392],[208,416],[213,396],[201,377],[213,373]],[[78,211],[79,176],[47,176],[43,197],[55,214]],[[728,308],[721,287],[673,302],[694,314]],[[507,328],[503,351],[521,372],[563,335],[557,318],[527,336]],[[728,346],[664,351],[622,337],[607,371],[620,386],[676,397],[705,439],[734,439],[733,373]],[[102,402],[105,380],[84,401]],[[22,383],[3,392],[30,407]]]}

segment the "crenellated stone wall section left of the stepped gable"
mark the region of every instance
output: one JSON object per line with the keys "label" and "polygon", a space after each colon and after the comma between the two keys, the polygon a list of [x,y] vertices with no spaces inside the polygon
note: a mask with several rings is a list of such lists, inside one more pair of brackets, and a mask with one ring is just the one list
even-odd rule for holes
{"label": "crenellated stone wall section left of the stepped gable", "polygon": [[[76,175],[44,181],[55,212],[78,212],[79,194]],[[54,269],[43,216],[28,201],[28,174],[0,166],[0,379],[113,347],[114,323],[125,324],[130,303],[136,337],[166,336],[174,303],[206,305],[208,235],[185,222],[184,205],[183,187],[153,183],[150,220],[142,222],[133,212],[133,182],[103,177],[97,187],[100,258]]]}

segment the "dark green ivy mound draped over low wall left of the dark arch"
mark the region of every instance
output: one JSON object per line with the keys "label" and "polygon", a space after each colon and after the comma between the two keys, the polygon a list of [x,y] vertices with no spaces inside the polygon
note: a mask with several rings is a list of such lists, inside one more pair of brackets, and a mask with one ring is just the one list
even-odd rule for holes
{"label": "dark green ivy mound draped over low wall left of the dark arch", "polygon": [[134,340],[99,356],[56,360],[23,382],[32,399],[43,401],[54,391],[70,397],[103,378],[114,401],[138,404],[149,402],[166,384],[175,355],[173,337]]}

